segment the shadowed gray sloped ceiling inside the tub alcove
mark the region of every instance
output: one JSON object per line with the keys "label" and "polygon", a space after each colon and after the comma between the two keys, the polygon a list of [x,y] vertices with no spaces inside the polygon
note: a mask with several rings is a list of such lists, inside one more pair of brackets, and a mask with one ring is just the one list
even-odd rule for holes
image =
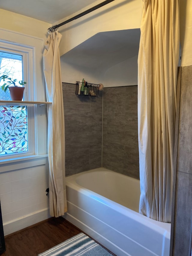
{"label": "shadowed gray sloped ceiling inside the tub alcove", "polygon": [[61,56],[63,62],[82,68],[107,70],[138,55],[140,29],[100,32]]}

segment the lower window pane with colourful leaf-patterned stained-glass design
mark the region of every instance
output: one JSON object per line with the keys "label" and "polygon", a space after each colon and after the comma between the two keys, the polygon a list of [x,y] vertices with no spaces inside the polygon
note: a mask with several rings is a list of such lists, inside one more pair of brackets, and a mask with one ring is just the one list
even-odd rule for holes
{"label": "lower window pane with colourful leaf-patterned stained-glass design", "polygon": [[0,106],[0,155],[28,151],[27,106]]}

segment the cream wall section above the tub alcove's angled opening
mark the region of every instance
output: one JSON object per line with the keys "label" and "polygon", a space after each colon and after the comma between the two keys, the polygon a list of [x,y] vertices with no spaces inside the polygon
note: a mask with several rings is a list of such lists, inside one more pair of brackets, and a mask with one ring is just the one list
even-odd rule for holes
{"label": "cream wall section above the tub alcove's angled opening", "polygon": [[[95,5],[101,3],[100,0],[95,2]],[[82,9],[80,12],[85,11],[93,5]],[[111,2],[102,8],[99,8],[90,14],[67,23],[61,26],[58,30],[62,34],[60,43],[60,55],[73,49],[83,41],[98,32],[135,29],[140,27],[141,21],[141,1],[140,0],[118,0]],[[80,12],[73,14],[73,16]],[[69,18],[59,20],[59,24]]]}

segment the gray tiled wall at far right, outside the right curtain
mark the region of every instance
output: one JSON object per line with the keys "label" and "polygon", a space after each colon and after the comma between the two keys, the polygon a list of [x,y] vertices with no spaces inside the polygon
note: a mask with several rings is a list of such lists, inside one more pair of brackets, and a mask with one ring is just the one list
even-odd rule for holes
{"label": "gray tiled wall at far right, outside the right curtain", "polygon": [[[192,65],[179,67],[181,72],[180,106],[177,101],[178,135],[175,215],[172,216],[173,256],[191,255],[192,247]],[[179,86],[179,85],[178,85]]]}

